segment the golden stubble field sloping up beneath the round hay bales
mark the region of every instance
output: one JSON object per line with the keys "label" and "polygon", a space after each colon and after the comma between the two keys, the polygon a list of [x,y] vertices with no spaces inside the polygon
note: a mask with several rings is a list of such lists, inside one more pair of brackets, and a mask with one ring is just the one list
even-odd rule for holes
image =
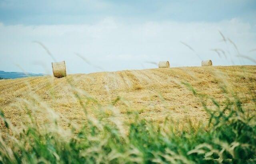
{"label": "golden stubble field sloping up beneath the round hay bales", "polygon": [[[181,82],[217,101],[237,94],[246,109],[256,89],[256,66],[176,67],[72,74],[0,80],[0,108],[14,126],[29,122],[29,114],[41,123],[58,117],[63,127],[86,122],[101,112],[111,118],[132,121],[130,112],[140,118],[162,123],[166,117],[182,122],[206,121],[208,114],[200,100]],[[223,93],[227,86],[229,94]],[[210,99],[207,105],[215,109]],[[52,112],[54,111],[54,113]],[[254,113],[254,111],[249,111]]]}

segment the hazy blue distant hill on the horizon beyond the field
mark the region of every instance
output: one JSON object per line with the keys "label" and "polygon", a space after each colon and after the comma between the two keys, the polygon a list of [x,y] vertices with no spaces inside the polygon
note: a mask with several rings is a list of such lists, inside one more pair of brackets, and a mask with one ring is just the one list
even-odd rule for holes
{"label": "hazy blue distant hill on the horizon beyond the field", "polygon": [[24,73],[24,72],[5,72],[0,71],[0,77],[3,79],[17,79],[21,77],[31,77],[31,76],[44,76],[43,73]]}

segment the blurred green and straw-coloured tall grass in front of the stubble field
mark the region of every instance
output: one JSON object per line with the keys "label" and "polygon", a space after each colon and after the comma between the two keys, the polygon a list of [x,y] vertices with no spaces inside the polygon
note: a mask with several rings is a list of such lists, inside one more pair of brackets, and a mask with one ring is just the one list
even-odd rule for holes
{"label": "blurred green and straw-coloured tall grass in front of the stubble field", "polygon": [[[72,85],[72,84],[70,84]],[[62,128],[54,111],[47,111],[44,104],[34,96],[34,104],[46,110],[49,121],[40,124],[37,113],[26,106],[30,123],[22,127],[13,126],[1,111],[0,163],[256,163],[256,119],[255,90],[250,93],[254,106],[244,109],[238,93],[230,93],[228,86],[221,85],[226,97],[218,102],[212,97],[196,91],[189,83],[182,82],[190,90],[210,116],[208,124],[188,120],[182,125],[170,118],[162,124],[143,119],[138,112],[128,112],[132,123],[123,122],[113,106],[98,115],[88,113],[88,102],[74,89],[86,115],[86,122],[70,123]],[[206,98],[211,99],[214,109],[208,107]],[[120,101],[120,97],[112,105]],[[85,103],[86,102],[86,103]],[[220,105],[220,103],[222,105]],[[224,104],[224,105],[223,105]],[[129,110],[129,109],[127,109]],[[113,114],[114,113],[114,114]]]}

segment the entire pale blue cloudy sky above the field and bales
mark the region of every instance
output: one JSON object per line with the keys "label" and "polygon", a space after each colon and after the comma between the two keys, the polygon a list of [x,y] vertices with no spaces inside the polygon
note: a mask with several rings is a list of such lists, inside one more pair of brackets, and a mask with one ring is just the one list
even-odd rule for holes
{"label": "entire pale blue cloudy sky above the field and bales", "polygon": [[[0,0],[0,70],[255,65],[255,0]],[[253,61],[254,60],[254,61]]]}

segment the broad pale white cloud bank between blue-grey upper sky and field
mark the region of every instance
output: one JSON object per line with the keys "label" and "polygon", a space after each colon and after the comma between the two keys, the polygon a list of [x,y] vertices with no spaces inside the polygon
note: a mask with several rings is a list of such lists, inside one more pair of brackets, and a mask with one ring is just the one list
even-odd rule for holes
{"label": "broad pale white cloud bank between blue-grey upper sky and field", "polygon": [[[214,65],[255,64],[239,59],[231,43],[222,40],[218,30],[229,37],[243,55],[256,48],[255,25],[238,19],[215,23],[173,21],[128,24],[114,18],[106,18],[96,24],[82,25],[9,25],[0,24],[0,70],[20,71],[19,64],[32,73],[46,73],[35,63],[40,61],[51,70],[52,59],[40,45],[48,47],[54,57],[65,60],[69,73],[99,71],[87,65],[74,53],[84,55],[94,65],[101,65],[105,71],[142,69],[155,65],[146,61],[169,60],[171,66],[196,66],[200,59],[193,51],[180,43],[190,45],[201,59],[212,59]],[[219,58],[210,49],[221,48],[229,51],[228,60]]]}

